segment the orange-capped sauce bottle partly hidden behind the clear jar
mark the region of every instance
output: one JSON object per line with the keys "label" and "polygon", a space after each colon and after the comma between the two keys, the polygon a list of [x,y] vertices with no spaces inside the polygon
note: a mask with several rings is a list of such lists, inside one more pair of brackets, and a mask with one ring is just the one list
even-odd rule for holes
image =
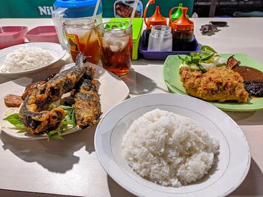
{"label": "orange-capped sauce bottle partly hidden behind the clear jar", "polygon": [[149,17],[148,20],[146,20],[147,10],[148,10],[148,6],[150,5],[150,3],[154,4],[155,0],[149,0],[147,5],[145,6],[145,11],[143,12],[143,18],[145,20],[145,25],[147,26],[146,35],[145,35],[145,43],[143,43],[146,47],[148,47],[151,27],[155,25],[166,25],[166,18],[162,16],[162,14],[160,13],[159,6],[156,6],[153,16]]}

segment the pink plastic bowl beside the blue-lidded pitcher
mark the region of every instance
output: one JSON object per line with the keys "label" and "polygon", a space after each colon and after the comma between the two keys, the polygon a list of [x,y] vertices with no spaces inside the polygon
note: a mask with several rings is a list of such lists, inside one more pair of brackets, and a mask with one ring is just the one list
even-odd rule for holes
{"label": "pink plastic bowl beside the blue-lidded pitcher", "polygon": [[55,26],[38,26],[25,34],[25,37],[29,42],[55,42],[58,41],[58,35],[55,31]]}

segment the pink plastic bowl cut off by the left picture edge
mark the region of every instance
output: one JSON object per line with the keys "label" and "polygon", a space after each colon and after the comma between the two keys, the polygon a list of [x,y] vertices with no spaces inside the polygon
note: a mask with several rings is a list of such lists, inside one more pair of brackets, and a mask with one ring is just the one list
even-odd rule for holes
{"label": "pink plastic bowl cut off by the left picture edge", "polygon": [[0,49],[25,42],[27,27],[4,26],[0,27]]}

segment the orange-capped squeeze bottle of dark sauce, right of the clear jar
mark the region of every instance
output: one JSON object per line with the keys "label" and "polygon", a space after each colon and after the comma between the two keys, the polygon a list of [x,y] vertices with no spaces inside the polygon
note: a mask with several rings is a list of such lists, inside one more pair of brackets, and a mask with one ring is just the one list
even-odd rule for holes
{"label": "orange-capped squeeze bottle of dark sauce, right of the clear jar", "polygon": [[194,22],[186,16],[188,8],[181,7],[182,14],[180,18],[172,21],[171,14],[175,8],[172,8],[169,12],[169,25],[173,34],[173,51],[194,51]]}

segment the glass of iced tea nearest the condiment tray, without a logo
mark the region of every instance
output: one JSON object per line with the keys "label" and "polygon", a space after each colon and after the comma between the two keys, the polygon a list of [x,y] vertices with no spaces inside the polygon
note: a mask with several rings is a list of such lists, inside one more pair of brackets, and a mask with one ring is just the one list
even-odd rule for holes
{"label": "glass of iced tea nearest the condiment tray, without a logo", "polygon": [[103,68],[119,77],[132,66],[132,27],[126,22],[109,22],[97,26]]}

